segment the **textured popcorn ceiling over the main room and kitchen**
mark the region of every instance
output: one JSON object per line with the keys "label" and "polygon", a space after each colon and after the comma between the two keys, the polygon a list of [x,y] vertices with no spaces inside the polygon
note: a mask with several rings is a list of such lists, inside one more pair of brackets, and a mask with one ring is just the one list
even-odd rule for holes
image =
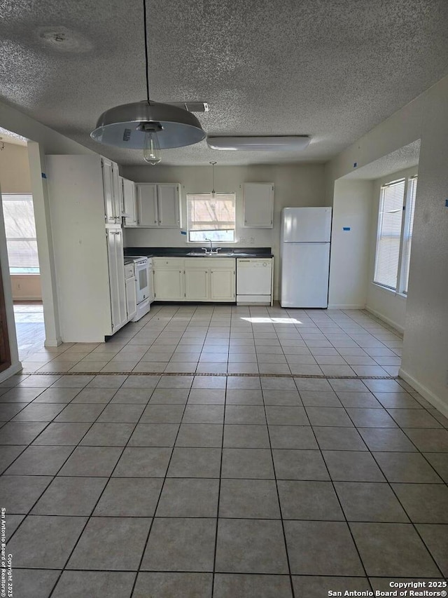
{"label": "textured popcorn ceiling over the main room and kitchen", "polygon": [[[147,0],[151,99],[200,100],[209,135],[311,135],[297,153],[165,150],[178,165],[326,161],[448,74],[447,0]],[[143,100],[141,0],[2,0],[0,97],[90,140]],[[65,41],[52,41],[58,32]]]}

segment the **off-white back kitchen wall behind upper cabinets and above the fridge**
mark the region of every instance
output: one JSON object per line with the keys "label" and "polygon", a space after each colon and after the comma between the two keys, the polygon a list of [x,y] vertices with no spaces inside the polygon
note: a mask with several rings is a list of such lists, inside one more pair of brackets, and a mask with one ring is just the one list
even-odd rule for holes
{"label": "off-white back kitchen wall behind upper cabinets and above the fridge", "polygon": [[[183,226],[186,226],[186,194],[211,191],[211,166],[123,167],[120,174],[136,182],[180,182]],[[274,183],[274,228],[244,229],[243,189],[245,182]],[[274,298],[279,289],[280,212],[288,206],[325,205],[324,166],[322,164],[216,166],[215,189],[237,193],[237,243],[219,243],[223,247],[272,247],[274,254]],[[254,242],[251,243],[251,237]],[[127,247],[191,247],[179,230],[126,229]],[[245,240],[243,240],[245,239]],[[202,245],[195,243],[193,246]]]}

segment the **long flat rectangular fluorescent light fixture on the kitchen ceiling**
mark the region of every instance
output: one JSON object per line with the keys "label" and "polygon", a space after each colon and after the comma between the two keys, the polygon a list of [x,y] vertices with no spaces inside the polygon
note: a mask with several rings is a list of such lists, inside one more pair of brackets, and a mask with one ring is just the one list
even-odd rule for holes
{"label": "long flat rectangular fluorescent light fixture on the kitchen ceiling", "polygon": [[297,151],[305,149],[311,137],[308,135],[276,135],[264,137],[207,137],[211,149],[238,151]]}

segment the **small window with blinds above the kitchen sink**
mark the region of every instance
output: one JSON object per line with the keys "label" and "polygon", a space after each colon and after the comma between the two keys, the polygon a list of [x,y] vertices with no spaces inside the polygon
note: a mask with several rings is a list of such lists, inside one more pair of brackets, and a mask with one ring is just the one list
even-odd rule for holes
{"label": "small window with blinds above the kitchen sink", "polygon": [[188,240],[235,240],[235,193],[188,193]]}

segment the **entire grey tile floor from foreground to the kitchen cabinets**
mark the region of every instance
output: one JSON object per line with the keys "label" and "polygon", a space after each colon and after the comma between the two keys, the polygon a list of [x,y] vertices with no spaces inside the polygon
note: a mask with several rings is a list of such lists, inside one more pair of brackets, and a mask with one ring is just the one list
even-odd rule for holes
{"label": "entire grey tile floor from foreground to the kitchen cabinets", "polygon": [[64,346],[69,375],[42,359],[1,383],[14,595],[323,598],[447,576],[448,420],[391,377],[399,345],[363,312],[164,306]]}

